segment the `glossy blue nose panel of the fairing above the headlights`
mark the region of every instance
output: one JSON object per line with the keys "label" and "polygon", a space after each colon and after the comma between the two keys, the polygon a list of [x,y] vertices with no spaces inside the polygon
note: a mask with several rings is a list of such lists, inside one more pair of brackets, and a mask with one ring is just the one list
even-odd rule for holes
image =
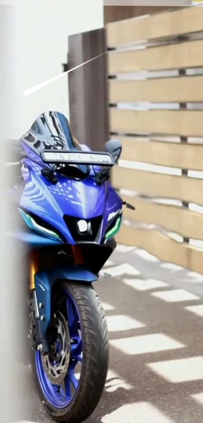
{"label": "glossy blue nose panel of the fairing above the headlights", "polygon": [[34,167],[29,171],[20,206],[50,223],[73,244],[63,215],[80,219],[105,216],[107,183],[99,187],[92,176],[77,182],[58,175],[58,183],[51,185],[41,176],[38,166]]}

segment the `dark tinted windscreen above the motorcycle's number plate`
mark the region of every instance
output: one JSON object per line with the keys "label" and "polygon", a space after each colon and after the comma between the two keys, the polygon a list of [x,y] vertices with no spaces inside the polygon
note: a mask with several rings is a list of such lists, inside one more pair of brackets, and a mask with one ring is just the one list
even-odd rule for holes
{"label": "dark tinted windscreen above the motorcycle's number plate", "polygon": [[[40,154],[44,150],[80,150],[79,143],[74,139],[69,121],[60,112],[48,111],[40,114],[31,129],[21,139],[32,150]],[[63,165],[64,166],[64,165]],[[57,167],[63,167],[57,164]],[[70,165],[73,167],[73,165]],[[89,173],[89,166],[74,165],[75,170]],[[75,175],[74,170],[74,175]]]}

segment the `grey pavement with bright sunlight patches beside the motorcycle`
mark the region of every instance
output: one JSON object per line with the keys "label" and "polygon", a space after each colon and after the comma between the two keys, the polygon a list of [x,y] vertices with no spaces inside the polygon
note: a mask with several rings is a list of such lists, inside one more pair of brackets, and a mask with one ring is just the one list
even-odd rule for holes
{"label": "grey pavement with bright sunlight patches beside the motorcycle", "polygon": [[[107,315],[110,368],[87,423],[202,423],[203,276],[124,246],[105,271],[113,277],[95,289]],[[25,371],[32,411],[23,418],[47,423]]]}

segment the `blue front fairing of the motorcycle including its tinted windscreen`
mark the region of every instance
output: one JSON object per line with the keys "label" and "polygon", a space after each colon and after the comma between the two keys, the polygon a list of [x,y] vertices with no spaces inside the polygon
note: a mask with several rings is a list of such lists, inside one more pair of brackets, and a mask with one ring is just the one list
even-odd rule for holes
{"label": "blue front fairing of the motorcycle including its tinted windscreen", "polygon": [[78,164],[75,167],[82,171],[83,180],[77,181],[57,174],[56,185],[52,185],[41,175],[44,163],[40,154],[46,149],[91,151],[89,147],[79,145],[74,139],[66,117],[56,111],[42,113],[21,138],[21,143],[26,158],[22,171],[25,188],[21,195],[20,207],[51,224],[71,244],[74,244],[74,239],[65,224],[64,215],[78,219],[102,216],[102,238],[109,224],[121,210],[122,201],[109,182],[102,186],[95,183],[95,172],[100,168],[85,166],[84,169],[83,165]]}

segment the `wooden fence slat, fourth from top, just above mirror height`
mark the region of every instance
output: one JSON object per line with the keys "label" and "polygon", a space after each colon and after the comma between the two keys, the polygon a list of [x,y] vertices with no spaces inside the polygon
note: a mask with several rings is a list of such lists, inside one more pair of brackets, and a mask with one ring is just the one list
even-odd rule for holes
{"label": "wooden fence slat, fourth from top, just above mirror height", "polygon": [[110,131],[180,136],[203,135],[203,110],[126,110],[109,108]]}

